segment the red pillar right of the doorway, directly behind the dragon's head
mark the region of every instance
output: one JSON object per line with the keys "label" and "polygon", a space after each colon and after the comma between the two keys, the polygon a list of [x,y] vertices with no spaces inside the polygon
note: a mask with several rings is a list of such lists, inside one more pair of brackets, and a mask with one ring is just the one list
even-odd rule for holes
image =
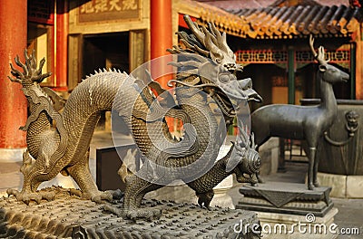
{"label": "red pillar right of the doorway, directly behind the dragon's head", "polygon": [[[172,48],[172,0],[151,0],[151,57],[152,59],[168,55],[166,49]],[[169,72],[172,67],[167,63],[172,58],[166,58],[158,64],[158,69],[152,69],[152,75],[157,75],[158,71]],[[156,72],[155,72],[156,71]],[[155,79],[167,87],[167,82],[172,80],[172,75],[165,75]]]}

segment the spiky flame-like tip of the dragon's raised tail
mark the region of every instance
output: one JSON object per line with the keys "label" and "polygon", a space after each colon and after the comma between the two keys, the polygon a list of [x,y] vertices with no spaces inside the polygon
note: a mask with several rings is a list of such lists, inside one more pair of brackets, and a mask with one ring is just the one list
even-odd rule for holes
{"label": "spiky flame-like tip of the dragon's raised tail", "polygon": [[10,81],[18,82],[21,84],[33,84],[34,82],[40,83],[44,81],[45,78],[49,77],[52,72],[47,72],[42,74],[42,68],[44,66],[45,59],[43,58],[39,62],[39,68],[36,69],[36,58],[35,58],[35,51],[31,55],[29,55],[25,49],[24,51],[25,56],[25,63],[20,62],[19,56],[16,55],[15,63],[16,65],[23,68],[23,72],[20,72],[15,69],[12,63],[10,63],[11,73],[15,78],[11,78],[8,76]]}

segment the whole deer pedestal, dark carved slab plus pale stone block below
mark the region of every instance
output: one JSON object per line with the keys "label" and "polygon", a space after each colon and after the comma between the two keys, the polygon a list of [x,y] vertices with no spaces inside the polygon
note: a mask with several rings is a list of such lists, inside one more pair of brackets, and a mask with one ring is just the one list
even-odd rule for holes
{"label": "whole deer pedestal, dark carved slab plus pale stone block below", "polygon": [[255,211],[261,223],[263,238],[335,238],[330,187],[308,190],[304,184],[269,182],[243,186],[236,208]]}

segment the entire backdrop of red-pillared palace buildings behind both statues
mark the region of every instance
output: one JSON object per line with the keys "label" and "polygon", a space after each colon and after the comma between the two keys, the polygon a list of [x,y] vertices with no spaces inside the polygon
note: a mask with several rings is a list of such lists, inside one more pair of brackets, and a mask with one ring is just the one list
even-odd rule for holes
{"label": "entire backdrop of red-pillared palace buildings behind both statues", "polygon": [[264,103],[319,96],[309,34],[350,74],[348,84],[336,86],[337,98],[363,99],[358,1],[0,0],[0,148],[25,147],[18,127],[26,100],[7,79],[16,54],[27,48],[45,57],[44,72],[54,73],[44,85],[66,97],[94,69],[132,72],[166,54],[186,27],[183,14],[228,33],[245,67],[240,77],[252,78]]}

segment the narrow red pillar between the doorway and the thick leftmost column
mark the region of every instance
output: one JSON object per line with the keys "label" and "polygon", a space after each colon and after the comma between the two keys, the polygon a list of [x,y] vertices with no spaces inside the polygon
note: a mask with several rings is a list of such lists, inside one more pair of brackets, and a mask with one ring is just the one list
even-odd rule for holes
{"label": "narrow red pillar between the doorway and the thick leftmost column", "polygon": [[56,1],[55,86],[67,91],[68,65],[68,1]]}

